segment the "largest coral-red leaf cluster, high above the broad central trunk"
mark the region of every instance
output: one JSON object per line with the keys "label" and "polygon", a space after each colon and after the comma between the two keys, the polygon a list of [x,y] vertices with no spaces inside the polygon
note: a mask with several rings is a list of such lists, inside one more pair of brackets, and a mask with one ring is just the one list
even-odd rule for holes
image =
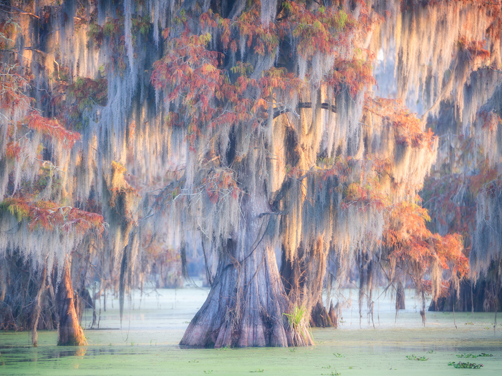
{"label": "largest coral-red leaf cluster, high above the broad central trunk", "polygon": [[[232,73],[239,74],[232,84],[226,72],[218,68],[220,54],[206,48],[209,41],[209,34],[190,35],[185,30],[170,41],[169,53],[154,64],[151,77],[154,87],[165,91],[168,101],[178,103],[176,117],[183,119],[182,123],[189,130],[187,140],[192,148],[202,127],[250,120],[258,124],[269,116],[272,93],[285,96],[288,91],[299,90],[303,85],[282,68],[265,71],[259,80],[250,78],[247,75],[250,67],[240,62],[232,68]],[[251,89],[261,95],[248,98]],[[228,103],[231,106],[220,112],[219,109]]]}

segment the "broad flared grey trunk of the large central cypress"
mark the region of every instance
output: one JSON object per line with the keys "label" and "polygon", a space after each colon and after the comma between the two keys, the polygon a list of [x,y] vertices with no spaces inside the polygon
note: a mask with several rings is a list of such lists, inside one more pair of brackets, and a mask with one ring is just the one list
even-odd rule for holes
{"label": "broad flared grey trunk of the large central cypress", "polygon": [[[258,190],[260,191],[260,190]],[[265,194],[244,195],[243,220],[220,255],[209,296],[180,345],[262,347],[313,344],[308,315],[297,325],[266,234],[270,213]],[[242,239],[238,237],[242,236]]]}

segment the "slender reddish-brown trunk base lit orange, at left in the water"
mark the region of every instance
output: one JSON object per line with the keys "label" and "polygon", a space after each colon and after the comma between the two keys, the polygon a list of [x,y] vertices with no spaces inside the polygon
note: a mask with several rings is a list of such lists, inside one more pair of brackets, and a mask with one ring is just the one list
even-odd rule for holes
{"label": "slender reddish-brown trunk base lit orange, at left in the water", "polygon": [[56,304],[59,316],[58,345],[86,345],[87,341],[78,323],[77,313],[75,311],[74,294],[68,262],[66,262],[61,283],[57,286]]}

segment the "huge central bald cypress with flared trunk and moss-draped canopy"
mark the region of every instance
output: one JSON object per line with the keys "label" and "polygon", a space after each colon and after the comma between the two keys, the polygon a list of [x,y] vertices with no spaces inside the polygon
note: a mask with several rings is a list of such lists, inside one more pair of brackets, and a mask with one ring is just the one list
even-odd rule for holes
{"label": "huge central bald cypress with flared trunk and moss-draped canopy", "polygon": [[[28,114],[21,123],[51,145],[43,160],[64,166],[50,170],[43,190],[30,189],[81,216],[98,203],[109,224],[101,253],[113,260],[110,269],[120,268],[121,310],[142,245],[167,226],[180,231],[185,272],[194,234],[214,265],[209,296],[181,340],[189,346],[312,344],[309,315],[329,263],[339,284],[357,268],[361,297],[382,269],[391,285],[408,276],[435,298],[443,277],[457,285],[465,274],[459,237],[427,230],[416,194],[438,149],[443,157],[427,116],[450,101],[467,132],[492,95],[483,85],[500,63],[496,6],[21,3],[2,5],[3,61],[19,64],[2,85],[32,77],[12,92],[33,97],[36,111],[18,97],[16,111],[2,102],[11,126],[2,128],[0,163],[8,168],[0,171],[0,200],[18,223],[35,223],[16,201],[24,182],[40,175],[39,140],[27,143],[28,159],[14,147],[13,124]],[[398,96],[421,98],[428,109],[421,119],[399,98],[376,95],[381,48],[384,55],[394,48]],[[485,76],[476,73],[480,65]],[[18,247],[12,239],[0,249]],[[56,260],[62,275],[71,246],[53,249],[47,265]]]}

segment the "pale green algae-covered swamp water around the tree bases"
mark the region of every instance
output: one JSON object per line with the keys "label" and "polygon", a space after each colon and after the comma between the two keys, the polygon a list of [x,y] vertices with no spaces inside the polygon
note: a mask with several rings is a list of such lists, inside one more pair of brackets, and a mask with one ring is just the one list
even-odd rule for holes
{"label": "pale green algae-covered swamp water around the tree bases", "polygon": [[[359,324],[355,293],[344,291],[339,328],[313,328],[316,346],[187,349],[177,343],[207,290],[159,290],[142,297],[136,292],[121,327],[117,300],[107,301],[106,312],[101,302],[99,329],[85,329],[88,346],[56,346],[55,331],[39,331],[38,347],[31,346],[30,332],[0,333],[0,374],[502,375],[502,325],[493,330],[493,313],[455,313],[454,320],[451,312],[427,312],[424,327],[418,303],[407,293],[407,309],[396,322],[392,302],[383,297],[375,303],[373,322],[363,312]],[[91,318],[87,310],[82,326]],[[457,357],[482,353],[493,356]],[[458,361],[483,367],[448,365]]]}

